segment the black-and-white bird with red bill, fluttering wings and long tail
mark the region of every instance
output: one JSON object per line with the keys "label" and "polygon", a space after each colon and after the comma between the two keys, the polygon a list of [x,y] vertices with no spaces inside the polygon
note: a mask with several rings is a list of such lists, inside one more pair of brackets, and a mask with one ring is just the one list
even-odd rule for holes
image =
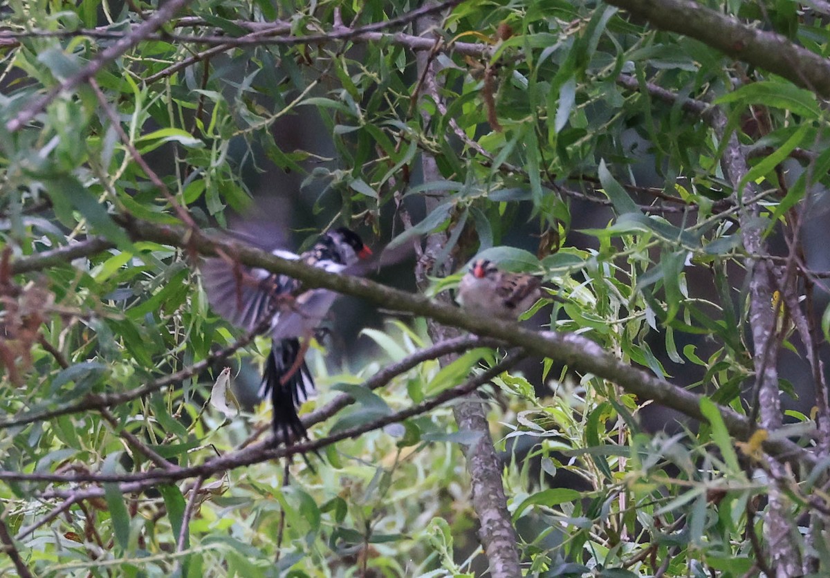
{"label": "black-and-white bird with red bill, fluttering wings and long tail", "polygon": [[[345,227],[324,233],[302,255],[279,249],[272,253],[283,259],[303,260],[330,273],[341,273],[372,255],[358,234]],[[328,289],[301,291],[300,282],[287,275],[240,268],[218,258],[204,261],[202,277],[213,309],[237,327],[252,331],[271,313],[271,352],[259,396],[271,395],[275,434],[281,432],[286,443],[292,437],[307,438],[297,415],[297,408],[315,388],[305,352],[337,294]],[[302,344],[300,338],[304,339]]]}

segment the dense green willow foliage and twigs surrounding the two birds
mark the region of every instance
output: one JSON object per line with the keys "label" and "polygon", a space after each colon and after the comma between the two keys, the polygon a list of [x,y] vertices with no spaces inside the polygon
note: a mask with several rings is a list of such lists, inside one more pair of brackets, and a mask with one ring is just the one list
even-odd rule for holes
{"label": "dense green willow foliage and twigs surrounding the two birds", "polygon": [[[5,2],[2,573],[481,575],[496,537],[463,450],[488,432],[457,429],[458,401],[395,412],[532,353],[472,401],[523,573],[823,576],[823,88],[691,32],[823,56],[823,2],[706,2],[681,33],[624,3]],[[381,282],[442,303],[481,251],[544,276],[564,303],[525,326],[601,351],[542,357],[486,319],[456,324],[500,347],[439,351],[420,302],[362,309],[351,360],[315,344],[305,411],[354,404],[286,475],[270,409],[229,393],[268,339],[212,313],[196,266],[253,192],[300,214],[301,246],[352,226],[403,262]]]}

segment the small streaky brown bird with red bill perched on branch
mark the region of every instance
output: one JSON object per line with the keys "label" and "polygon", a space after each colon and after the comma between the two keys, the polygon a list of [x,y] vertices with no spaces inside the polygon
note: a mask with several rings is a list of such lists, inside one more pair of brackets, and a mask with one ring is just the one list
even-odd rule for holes
{"label": "small streaky brown bird with red bill perched on branch", "polygon": [[535,275],[509,273],[479,259],[461,278],[457,301],[467,313],[515,321],[542,294],[542,282]]}

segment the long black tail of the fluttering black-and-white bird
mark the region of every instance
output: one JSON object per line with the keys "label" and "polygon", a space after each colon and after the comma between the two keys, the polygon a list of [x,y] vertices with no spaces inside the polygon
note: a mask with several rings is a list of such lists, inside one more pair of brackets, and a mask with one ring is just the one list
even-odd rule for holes
{"label": "long black tail of the fluttering black-and-white bird", "polygon": [[274,435],[282,434],[286,444],[308,438],[308,432],[303,422],[300,421],[300,416],[297,415],[297,408],[314,391],[314,378],[305,360],[285,385],[281,384],[283,376],[294,366],[298,355],[300,355],[299,339],[272,341],[271,353],[268,355],[260,386],[260,397],[264,398],[269,392],[271,393]]}

